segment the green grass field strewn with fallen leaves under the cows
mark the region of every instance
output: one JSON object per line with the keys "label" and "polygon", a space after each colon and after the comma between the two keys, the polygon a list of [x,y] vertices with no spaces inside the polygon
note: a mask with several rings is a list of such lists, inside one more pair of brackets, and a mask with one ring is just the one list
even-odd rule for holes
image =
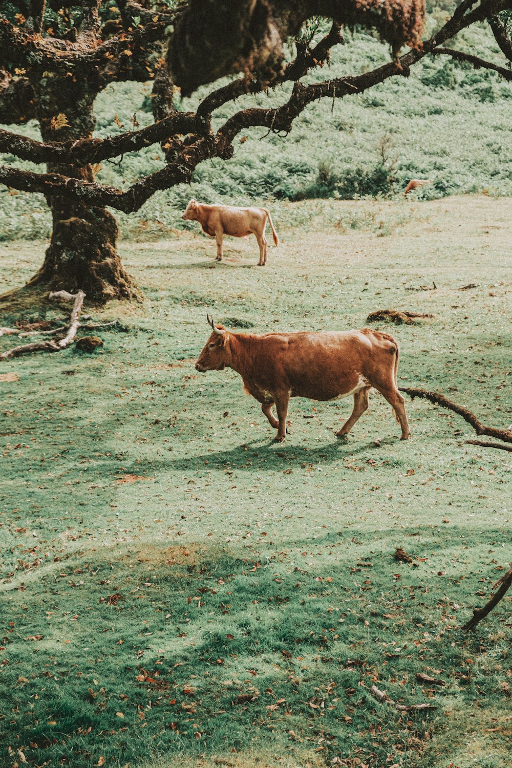
{"label": "green grass field strewn with fallen leaves under the cows", "polygon": [[[2,768],[510,764],[510,598],[457,629],[512,559],[510,454],[418,400],[401,442],[376,393],[344,440],[352,399],[293,400],[277,445],[236,373],[193,367],[206,311],[255,332],[433,313],[380,326],[399,383],[506,427],[510,206],[282,203],[264,269],[254,240],[220,265],[197,233],[124,241],[145,299],[84,310],[120,320],[101,351],[2,363]],[[43,247],[2,245],[2,290]]]}

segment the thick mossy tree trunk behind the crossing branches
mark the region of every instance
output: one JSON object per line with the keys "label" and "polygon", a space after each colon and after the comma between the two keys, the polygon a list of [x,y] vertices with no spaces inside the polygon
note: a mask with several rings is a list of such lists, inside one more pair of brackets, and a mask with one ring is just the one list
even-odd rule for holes
{"label": "thick mossy tree trunk behind the crossing branches", "polygon": [[[48,78],[39,93],[39,123],[45,141],[68,141],[91,137],[96,119],[93,112],[97,90],[72,78]],[[78,78],[77,78],[78,79]],[[58,120],[61,116],[60,121]],[[64,124],[62,124],[64,123]],[[61,124],[61,127],[59,127]],[[94,181],[91,165],[48,164],[49,173]],[[137,287],[124,271],[116,250],[117,223],[101,207],[84,205],[68,197],[47,198],[53,228],[45,262],[28,281],[48,290],[83,290],[88,301],[138,298]]]}

